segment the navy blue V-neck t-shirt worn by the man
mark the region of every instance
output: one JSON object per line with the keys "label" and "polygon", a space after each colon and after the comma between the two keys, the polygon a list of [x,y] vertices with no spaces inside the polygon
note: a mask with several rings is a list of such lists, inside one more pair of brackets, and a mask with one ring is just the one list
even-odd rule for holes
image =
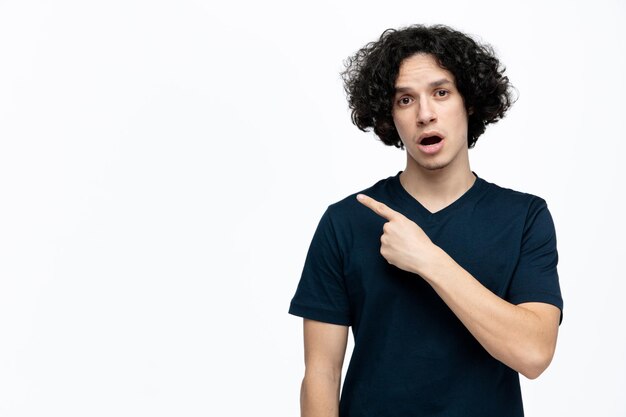
{"label": "navy blue V-neck t-shirt worn by the man", "polygon": [[[431,213],[400,174],[360,191],[418,224],[485,287],[513,303],[563,301],[546,202],[477,177]],[[352,326],[341,417],[523,416],[519,375],[494,359],[419,275],[380,254],[386,220],[356,200],[331,204],[289,313]],[[562,317],[562,316],[561,316]]]}

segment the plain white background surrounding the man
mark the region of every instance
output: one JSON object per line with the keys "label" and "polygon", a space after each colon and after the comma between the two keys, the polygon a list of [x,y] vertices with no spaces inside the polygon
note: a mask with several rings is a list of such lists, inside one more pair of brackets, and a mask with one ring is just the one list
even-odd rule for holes
{"label": "plain white background surrounding the man", "polygon": [[214,4],[0,1],[0,415],[297,415],[313,231],[405,163],[351,125],[342,61],[445,23],[520,94],[472,169],[557,228],[526,413],[625,416],[625,3]]}

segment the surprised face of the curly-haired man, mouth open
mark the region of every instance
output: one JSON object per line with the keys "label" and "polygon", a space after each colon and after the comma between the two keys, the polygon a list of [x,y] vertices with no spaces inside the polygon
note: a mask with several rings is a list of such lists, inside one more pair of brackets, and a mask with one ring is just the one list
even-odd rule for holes
{"label": "surprised face of the curly-haired man, mouth open", "polygon": [[467,111],[451,72],[428,54],[402,61],[392,108],[408,170],[469,171]]}

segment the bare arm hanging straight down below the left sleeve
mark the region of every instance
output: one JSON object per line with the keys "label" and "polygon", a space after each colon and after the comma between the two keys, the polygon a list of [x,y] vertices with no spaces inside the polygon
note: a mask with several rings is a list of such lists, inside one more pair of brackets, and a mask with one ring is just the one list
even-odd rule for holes
{"label": "bare arm hanging straight down below the left sleeve", "polygon": [[339,416],[341,369],[347,343],[348,326],[304,319],[302,417]]}

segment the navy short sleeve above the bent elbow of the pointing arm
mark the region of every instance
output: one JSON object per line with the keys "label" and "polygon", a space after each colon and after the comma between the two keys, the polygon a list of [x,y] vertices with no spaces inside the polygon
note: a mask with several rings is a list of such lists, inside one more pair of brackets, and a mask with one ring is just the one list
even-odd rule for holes
{"label": "navy short sleeve above the bent elbow of the pointing arm", "polygon": [[513,304],[552,304],[561,310],[562,321],[563,299],[557,272],[558,259],[552,216],[545,200],[535,197],[526,217],[519,260],[507,299]]}

